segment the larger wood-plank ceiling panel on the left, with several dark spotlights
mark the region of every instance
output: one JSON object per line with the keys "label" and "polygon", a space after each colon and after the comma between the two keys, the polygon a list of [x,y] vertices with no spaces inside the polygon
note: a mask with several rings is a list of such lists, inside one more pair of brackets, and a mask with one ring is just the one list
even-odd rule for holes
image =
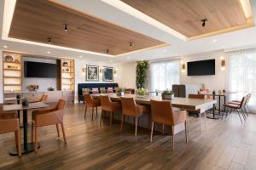
{"label": "larger wood-plank ceiling panel on the left, with several dark spotlights", "polygon": [[[64,31],[67,23],[68,31]],[[154,38],[46,0],[17,0],[9,37],[117,55],[163,45]],[[132,45],[130,46],[130,42]]]}

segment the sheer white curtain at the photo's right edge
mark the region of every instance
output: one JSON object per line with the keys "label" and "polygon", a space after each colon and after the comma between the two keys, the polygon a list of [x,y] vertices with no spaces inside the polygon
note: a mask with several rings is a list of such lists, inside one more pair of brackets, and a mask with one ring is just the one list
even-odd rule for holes
{"label": "sheer white curtain at the photo's right edge", "polygon": [[241,99],[243,95],[252,94],[250,109],[256,111],[256,48],[243,49],[226,53],[229,67],[227,89],[232,94],[230,99]]}

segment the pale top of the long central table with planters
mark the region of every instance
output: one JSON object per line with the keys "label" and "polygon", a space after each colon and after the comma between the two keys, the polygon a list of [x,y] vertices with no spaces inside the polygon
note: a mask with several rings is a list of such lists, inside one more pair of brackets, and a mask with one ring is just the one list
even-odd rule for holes
{"label": "pale top of the long central table with planters", "polygon": [[170,101],[173,107],[189,110],[198,110],[202,108],[207,108],[209,105],[216,104],[215,99],[189,99],[189,98],[177,98],[174,99],[162,99],[161,96],[146,96],[144,98],[137,97],[136,94],[125,94],[124,96],[119,96],[117,94],[92,94],[93,97],[97,98],[100,95],[108,95],[110,99],[120,100],[121,97],[134,98],[138,104],[150,105],[150,99],[159,101]]}

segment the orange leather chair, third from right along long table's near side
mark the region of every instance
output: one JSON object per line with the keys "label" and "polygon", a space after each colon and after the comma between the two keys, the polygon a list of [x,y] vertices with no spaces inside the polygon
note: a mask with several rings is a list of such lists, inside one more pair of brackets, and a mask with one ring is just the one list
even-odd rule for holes
{"label": "orange leather chair, third from right along long table's near side", "polygon": [[[108,95],[101,95],[100,96],[100,101],[102,104],[102,113],[109,112],[109,124],[110,127],[112,126],[112,119],[113,119],[113,112],[115,111],[120,111],[121,110],[121,105],[119,102],[113,102],[109,99]],[[101,116],[101,124],[102,124],[102,116]]]}

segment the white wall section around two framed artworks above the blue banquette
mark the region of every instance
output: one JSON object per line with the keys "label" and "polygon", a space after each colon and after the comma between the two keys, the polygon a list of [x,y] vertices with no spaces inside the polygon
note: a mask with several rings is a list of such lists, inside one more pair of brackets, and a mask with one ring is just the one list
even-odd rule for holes
{"label": "white wall section around two framed artworks above the blue banquette", "polygon": [[[113,67],[117,69],[117,75],[114,77],[113,82],[103,82],[102,75],[99,77],[99,81],[86,81],[85,73],[82,72],[82,68],[86,67],[86,65],[98,65],[99,68],[103,66]],[[119,83],[120,73],[119,73],[119,65],[112,62],[101,62],[101,61],[92,61],[85,59],[75,59],[75,99],[78,100],[78,84],[79,83]]]}

